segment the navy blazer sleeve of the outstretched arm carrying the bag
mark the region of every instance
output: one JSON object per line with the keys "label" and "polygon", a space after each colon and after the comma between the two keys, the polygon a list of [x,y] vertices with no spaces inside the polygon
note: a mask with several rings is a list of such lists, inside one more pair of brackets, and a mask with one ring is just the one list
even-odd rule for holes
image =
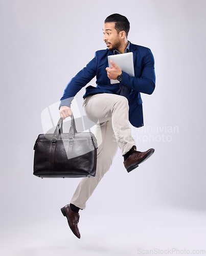
{"label": "navy blazer sleeve of the outstretched arm carrying the bag", "polygon": [[80,70],[70,82],[68,82],[64,89],[63,96],[61,97],[60,106],[71,106],[71,102],[74,96],[84,87],[86,84],[96,76],[98,54],[95,53],[95,57],[88,62],[86,67]]}

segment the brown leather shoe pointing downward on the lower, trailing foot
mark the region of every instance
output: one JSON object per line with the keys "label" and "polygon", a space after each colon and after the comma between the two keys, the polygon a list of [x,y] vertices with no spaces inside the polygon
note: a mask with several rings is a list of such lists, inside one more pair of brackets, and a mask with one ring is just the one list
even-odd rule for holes
{"label": "brown leather shoe pointing downward on the lower, trailing foot", "polygon": [[70,208],[70,205],[67,204],[63,208],[61,208],[61,212],[63,216],[66,217],[68,221],[68,225],[70,226],[72,232],[75,234],[76,237],[80,238],[80,232],[78,228],[78,222],[79,222],[79,214],[76,212],[72,211]]}

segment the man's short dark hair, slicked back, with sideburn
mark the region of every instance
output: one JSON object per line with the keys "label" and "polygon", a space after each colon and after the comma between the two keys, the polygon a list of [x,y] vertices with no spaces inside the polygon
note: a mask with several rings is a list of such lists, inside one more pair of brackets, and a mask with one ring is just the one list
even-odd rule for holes
{"label": "man's short dark hair, slicked back, with sideburn", "polygon": [[125,16],[119,13],[114,13],[109,15],[104,20],[104,23],[107,23],[107,22],[115,22],[115,29],[117,30],[117,32],[119,33],[120,31],[124,30],[126,33],[126,37],[128,36],[130,26],[129,26],[129,20]]}

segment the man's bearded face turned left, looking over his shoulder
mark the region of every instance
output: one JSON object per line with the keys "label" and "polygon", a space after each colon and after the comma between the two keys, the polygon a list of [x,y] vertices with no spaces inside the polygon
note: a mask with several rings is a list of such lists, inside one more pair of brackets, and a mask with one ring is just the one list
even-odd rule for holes
{"label": "man's bearded face turned left, looking over his shoulder", "polygon": [[115,22],[105,23],[103,26],[103,40],[108,50],[115,50],[121,46],[120,36],[115,29]]}

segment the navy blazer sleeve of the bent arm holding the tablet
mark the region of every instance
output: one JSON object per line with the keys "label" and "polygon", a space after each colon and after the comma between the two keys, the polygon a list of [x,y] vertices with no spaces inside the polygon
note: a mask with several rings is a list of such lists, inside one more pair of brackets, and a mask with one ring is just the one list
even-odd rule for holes
{"label": "navy blazer sleeve of the bent arm holding the tablet", "polygon": [[155,89],[155,72],[154,72],[154,57],[151,50],[148,48],[147,54],[143,63],[141,78],[129,76],[122,72],[123,77],[121,84],[130,89],[146,94],[152,94]]}

